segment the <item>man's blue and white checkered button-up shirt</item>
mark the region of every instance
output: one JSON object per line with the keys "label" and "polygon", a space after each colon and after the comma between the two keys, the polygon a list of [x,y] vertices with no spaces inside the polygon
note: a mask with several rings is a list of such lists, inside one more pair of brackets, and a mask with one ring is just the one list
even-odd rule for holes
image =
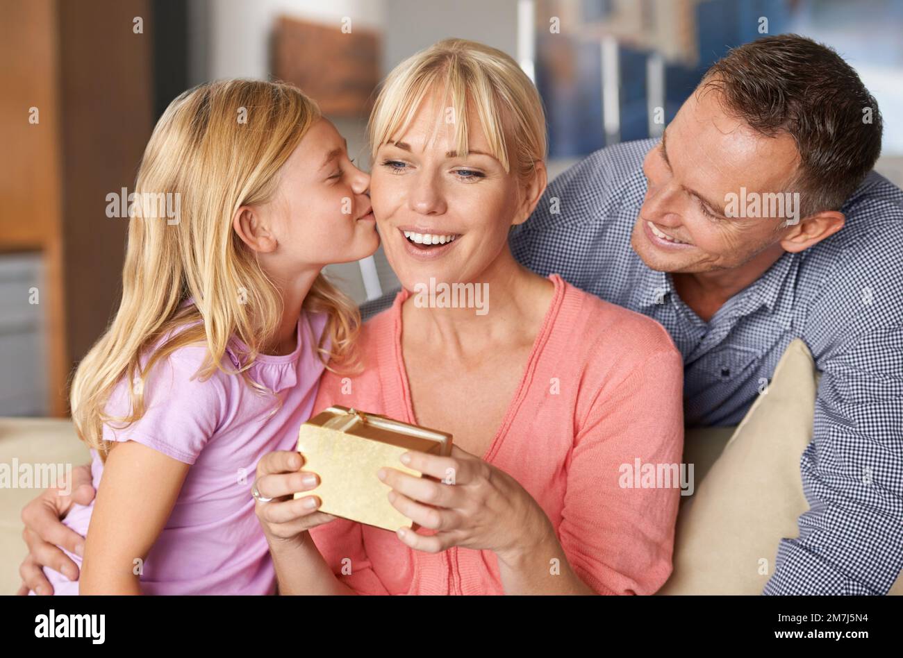
{"label": "man's blue and white checkered button-up shirt", "polygon": [[704,322],[630,246],[655,144],[601,149],[556,178],[512,231],[515,257],[660,322],[684,357],[688,425],[740,422],[802,338],[822,374],[800,459],[810,509],[763,593],[886,594],[903,567],[903,191],[871,173],[841,231],[786,253]]}

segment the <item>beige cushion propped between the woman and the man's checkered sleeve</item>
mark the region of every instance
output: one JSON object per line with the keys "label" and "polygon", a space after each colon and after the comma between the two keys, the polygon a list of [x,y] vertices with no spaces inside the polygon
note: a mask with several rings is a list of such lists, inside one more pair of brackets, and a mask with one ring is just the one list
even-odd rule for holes
{"label": "beige cushion propped between the woman and the man's checkered sleeve", "polygon": [[[799,460],[812,439],[815,390],[812,355],[797,338],[736,431],[687,431],[694,495],[681,501],[674,572],[657,594],[761,594],[778,542],[798,536],[797,517],[809,509]],[[903,577],[890,594],[903,594]]]}

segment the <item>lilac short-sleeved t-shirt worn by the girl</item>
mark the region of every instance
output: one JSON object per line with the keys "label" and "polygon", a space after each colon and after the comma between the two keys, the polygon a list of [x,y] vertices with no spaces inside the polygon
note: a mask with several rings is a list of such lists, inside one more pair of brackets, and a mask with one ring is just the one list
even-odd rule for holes
{"label": "lilac short-sleeved t-shirt worn by the girl", "polygon": [[[104,425],[106,440],[135,440],[191,464],[169,520],[144,561],[145,594],[272,594],[275,572],[254,512],[251,486],[257,461],[273,450],[294,449],[298,428],[311,416],[324,370],[315,354],[325,314],[302,313],[297,346],[285,356],[262,355],[251,377],[282,399],[271,418],[273,396],[256,394],[241,375],[217,371],[206,382],[191,380],[204,359],[205,345],[177,349],[154,366],[145,386],[144,416],[124,430]],[[239,348],[247,348],[233,338]],[[223,364],[237,366],[230,343]],[[146,357],[143,364],[146,363]],[[124,381],[107,411],[129,409]],[[103,464],[93,453],[94,487]],[[92,505],[75,505],[63,523],[88,532]],[[140,513],[140,511],[138,511]],[[79,567],[81,559],[69,554]],[[45,568],[57,594],[78,594],[79,584]]]}

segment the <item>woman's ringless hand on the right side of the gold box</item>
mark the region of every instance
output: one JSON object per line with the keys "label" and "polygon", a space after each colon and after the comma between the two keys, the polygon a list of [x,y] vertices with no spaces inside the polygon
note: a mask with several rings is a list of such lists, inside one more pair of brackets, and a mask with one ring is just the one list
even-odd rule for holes
{"label": "woman's ringless hand on the right side of the gold box", "polygon": [[[408,458],[405,461],[405,458]],[[432,535],[399,529],[398,536],[417,551],[439,552],[452,546],[495,551],[503,561],[517,561],[533,547],[554,537],[542,507],[514,477],[469,452],[452,446],[450,457],[411,450],[405,466],[426,477],[396,468],[380,468],[377,476],[392,491],[392,505]]]}

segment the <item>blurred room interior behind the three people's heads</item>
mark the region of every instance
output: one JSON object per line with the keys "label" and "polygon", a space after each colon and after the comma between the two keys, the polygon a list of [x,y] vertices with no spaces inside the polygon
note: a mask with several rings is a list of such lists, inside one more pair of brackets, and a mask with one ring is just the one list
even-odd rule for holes
{"label": "blurred room interior behind the three people's heads", "polygon": [[[766,33],[825,42],[885,118],[903,184],[903,0],[0,0],[0,416],[64,416],[72,368],[120,294],[131,190],[156,119],[202,81],[285,79],[368,166],[380,79],[442,38],[515,57],[545,102],[550,170],[661,134],[703,71]],[[330,267],[356,300],[396,287],[380,253]]]}

